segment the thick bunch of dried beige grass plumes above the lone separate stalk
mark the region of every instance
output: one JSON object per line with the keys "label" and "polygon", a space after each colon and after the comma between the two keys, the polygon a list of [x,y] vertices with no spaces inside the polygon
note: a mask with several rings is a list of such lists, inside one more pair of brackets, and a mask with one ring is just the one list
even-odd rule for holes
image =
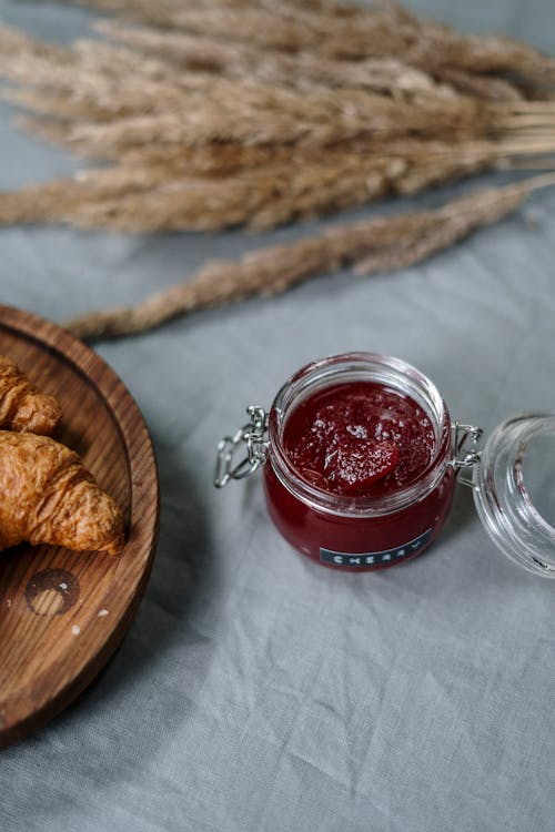
{"label": "thick bunch of dried beige grass plumes above the lone separate stalk", "polygon": [[92,0],[112,43],[0,28],[26,124],[110,168],[0,194],[0,223],[272,227],[555,153],[555,62],[396,6]]}

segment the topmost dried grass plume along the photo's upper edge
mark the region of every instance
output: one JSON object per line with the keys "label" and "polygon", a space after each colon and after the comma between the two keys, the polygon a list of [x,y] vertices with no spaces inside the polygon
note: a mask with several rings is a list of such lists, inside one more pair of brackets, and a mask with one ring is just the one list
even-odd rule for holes
{"label": "topmost dried grass plume along the photo's upper edge", "polygon": [[509,73],[525,87],[553,83],[555,63],[503,37],[464,35],[451,27],[420,20],[390,3],[375,9],[342,3],[180,2],[90,0],[88,6],[161,30],[209,34],[295,53],[316,51],[334,59],[364,60],[389,54],[441,77],[443,67],[471,74]]}

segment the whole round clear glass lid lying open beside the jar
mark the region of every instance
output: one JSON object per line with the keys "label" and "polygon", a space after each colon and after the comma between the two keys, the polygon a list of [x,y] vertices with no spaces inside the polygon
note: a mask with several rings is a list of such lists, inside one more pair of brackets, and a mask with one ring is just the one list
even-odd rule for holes
{"label": "whole round clear glass lid lying open beside the jar", "polygon": [[495,428],[474,466],[473,491],[497,548],[555,578],[555,416],[517,416]]}

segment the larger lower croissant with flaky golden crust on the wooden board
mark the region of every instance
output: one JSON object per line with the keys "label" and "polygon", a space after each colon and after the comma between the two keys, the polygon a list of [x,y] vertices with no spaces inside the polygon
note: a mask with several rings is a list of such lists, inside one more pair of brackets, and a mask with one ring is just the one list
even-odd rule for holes
{"label": "larger lower croissant with flaky golden crust on the wooden board", "polygon": [[79,456],[48,436],[0,430],[0,550],[23,540],[118,555],[123,517]]}

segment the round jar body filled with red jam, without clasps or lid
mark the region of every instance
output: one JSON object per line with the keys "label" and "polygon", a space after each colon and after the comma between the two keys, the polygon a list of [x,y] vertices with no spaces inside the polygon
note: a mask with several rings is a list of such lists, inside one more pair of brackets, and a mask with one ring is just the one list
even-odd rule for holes
{"label": "round jar body filled with red jam, without clasps or lid", "polygon": [[309,558],[351,571],[420,555],[455,484],[451,418],[436,387],[387,356],[303,367],[269,417],[264,490],[272,520]]}

